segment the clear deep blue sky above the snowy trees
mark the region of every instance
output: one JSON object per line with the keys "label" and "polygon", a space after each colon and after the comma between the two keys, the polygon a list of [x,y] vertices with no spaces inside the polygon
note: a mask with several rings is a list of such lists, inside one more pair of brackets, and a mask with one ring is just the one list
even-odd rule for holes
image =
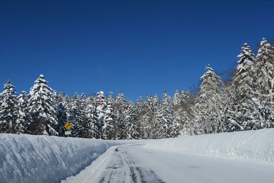
{"label": "clear deep blue sky above the snowy trees", "polygon": [[170,95],[274,38],[274,1],[0,1],[0,84]]}

